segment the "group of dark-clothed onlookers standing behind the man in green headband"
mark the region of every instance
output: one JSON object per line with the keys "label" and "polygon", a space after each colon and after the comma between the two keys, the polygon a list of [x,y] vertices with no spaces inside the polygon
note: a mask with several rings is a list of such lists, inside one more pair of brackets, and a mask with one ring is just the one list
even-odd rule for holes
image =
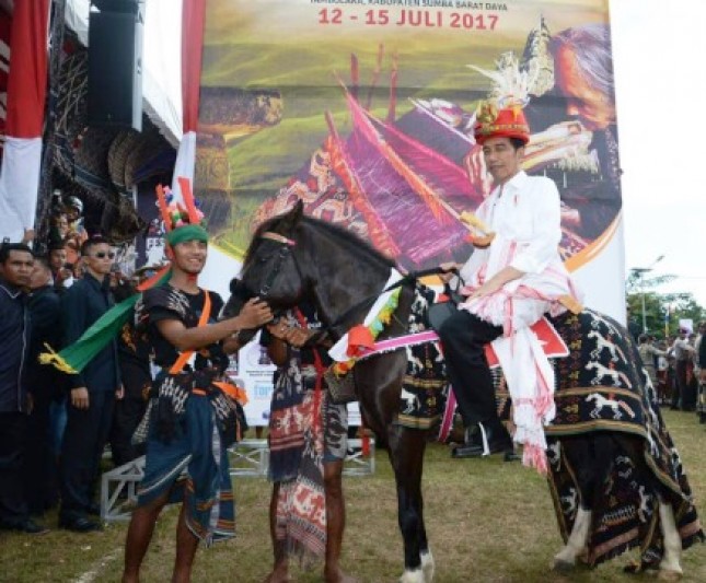
{"label": "group of dark-clothed onlookers standing behind the man in green headband", "polygon": [[[95,479],[104,445],[116,465],[143,452],[131,444],[151,382],[149,353],[126,325],[82,374],[39,363],[39,353],[77,340],[140,275],[113,270],[115,252],[82,225],[82,202],[56,197],[48,238],[3,243],[0,261],[0,528],[46,532],[36,520],[60,504],[59,525],[100,528]],[[44,253],[42,253],[44,252]]]}

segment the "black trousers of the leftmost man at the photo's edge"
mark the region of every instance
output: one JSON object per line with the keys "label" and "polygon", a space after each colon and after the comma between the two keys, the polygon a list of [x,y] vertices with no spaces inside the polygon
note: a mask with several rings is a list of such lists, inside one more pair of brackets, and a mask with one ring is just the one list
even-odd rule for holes
{"label": "black trousers of the leftmost man at the photo's edge", "polygon": [[28,517],[23,488],[27,416],[0,412],[0,521],[19,524]]}

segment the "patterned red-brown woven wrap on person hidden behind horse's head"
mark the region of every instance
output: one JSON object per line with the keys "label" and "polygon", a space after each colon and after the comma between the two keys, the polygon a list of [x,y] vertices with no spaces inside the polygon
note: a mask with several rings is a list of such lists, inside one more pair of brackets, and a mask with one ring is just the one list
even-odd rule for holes
{"label": "patterned red-brown woven wrap on person hidden behind horse's head", "polygon": [[[313,311],[297,315],[288,314],[290,325],[317,325]],[[346,406],[328,398],[325,359],[325,351],[315,347],[289,347],[287,364],[276,373],[270,407],[269,479],[279,483],[275,536],[304,565],[326,551],[323,464],[343,459],[347,448]]]}

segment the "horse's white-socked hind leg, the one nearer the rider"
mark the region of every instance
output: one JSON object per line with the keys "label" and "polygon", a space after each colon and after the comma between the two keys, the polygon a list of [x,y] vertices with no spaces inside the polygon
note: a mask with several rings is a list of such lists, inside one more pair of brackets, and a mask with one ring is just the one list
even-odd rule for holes
{"label": "horse's white-socked hind leg, the one nearer the rider", "polygon": [[576,471],[579,505],[571,534],[566,545],[554,556],[553,567],[556,570],[574,568],[577,559],[588,551],[593,510],[610,474],[615,444],[610,435],[592,434],[564,439],[562,448]]}

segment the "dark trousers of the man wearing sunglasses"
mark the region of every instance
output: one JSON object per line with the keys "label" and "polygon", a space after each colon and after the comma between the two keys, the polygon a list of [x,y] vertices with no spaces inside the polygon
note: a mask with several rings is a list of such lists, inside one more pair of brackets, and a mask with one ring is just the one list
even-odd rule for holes
{"label": "dark trousers of the man wearing sunglasses", "polygon": [[93,503],[99,464],[111,432],[114,404],[113,390],[90,390],[86,410],[67,404],[60,462],[60,514],[63,517],[84,516]]}

